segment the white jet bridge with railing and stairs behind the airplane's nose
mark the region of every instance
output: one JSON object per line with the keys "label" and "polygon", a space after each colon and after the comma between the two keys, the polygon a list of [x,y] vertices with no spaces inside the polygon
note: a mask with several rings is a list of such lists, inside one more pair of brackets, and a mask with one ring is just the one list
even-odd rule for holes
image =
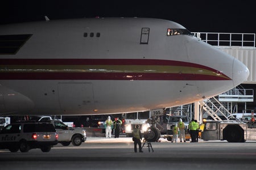
{"label": "white jet bridge with railing and stairs behind the airplane's nose", "polygon": [[[255,33],[216,33],[216,32],[192,32],[198,39],[234,56],[243,62],[249,69],[250,75],[244,83],[256,84],[256,43]],[[195,103],[195,118],[202,122],[203,111],[213,120],[222,120],[229,114],[237,113],[237,103],[253,102],[253,90],[234,88],[220,94]]]}

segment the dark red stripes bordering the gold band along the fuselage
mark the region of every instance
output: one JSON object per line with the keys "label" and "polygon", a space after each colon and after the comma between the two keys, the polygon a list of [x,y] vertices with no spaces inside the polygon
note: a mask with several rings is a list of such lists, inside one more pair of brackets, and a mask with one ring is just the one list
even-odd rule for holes
{"label": "dark red stripes bordering the gold band along the fuselage", "polygon": [[[186,66],[222,74],[220,71],[196,63],[163,59],[0,59],[0,65],[138,65]],[[23,80],[230,80],[228,76],[188,73],[0,73],[0,79]]]}

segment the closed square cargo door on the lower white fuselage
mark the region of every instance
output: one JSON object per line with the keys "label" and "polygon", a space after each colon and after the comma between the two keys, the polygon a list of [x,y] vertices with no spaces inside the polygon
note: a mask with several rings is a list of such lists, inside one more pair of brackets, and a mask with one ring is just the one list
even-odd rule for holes
{"label": "closed square cargo door on the lower white fuselage", "polygon": [[92,83],[59,83],[58,88],[60,108],[65,112],[93,109]]}

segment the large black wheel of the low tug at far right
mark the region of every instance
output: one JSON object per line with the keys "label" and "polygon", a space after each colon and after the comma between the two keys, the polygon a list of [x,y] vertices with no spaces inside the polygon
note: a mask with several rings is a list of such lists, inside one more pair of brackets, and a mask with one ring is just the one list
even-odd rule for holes
{"label": "large black wheel of the low tug at far right", "polygon": [[228,125],[223,129],[223,138],[228,142],[243,142],[243,129],[239,125]]}

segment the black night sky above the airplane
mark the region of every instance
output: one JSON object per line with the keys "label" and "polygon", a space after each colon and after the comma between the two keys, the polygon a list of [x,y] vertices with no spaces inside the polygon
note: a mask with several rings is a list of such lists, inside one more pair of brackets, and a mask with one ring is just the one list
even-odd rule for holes
{"label": "black night sky above the airplane", "polygon": [[255,3],[251,0],[216,1],[86,1],[5,0],[0,24],[90,17],[146,17],[177,22],[192,32],[256,33]]}

